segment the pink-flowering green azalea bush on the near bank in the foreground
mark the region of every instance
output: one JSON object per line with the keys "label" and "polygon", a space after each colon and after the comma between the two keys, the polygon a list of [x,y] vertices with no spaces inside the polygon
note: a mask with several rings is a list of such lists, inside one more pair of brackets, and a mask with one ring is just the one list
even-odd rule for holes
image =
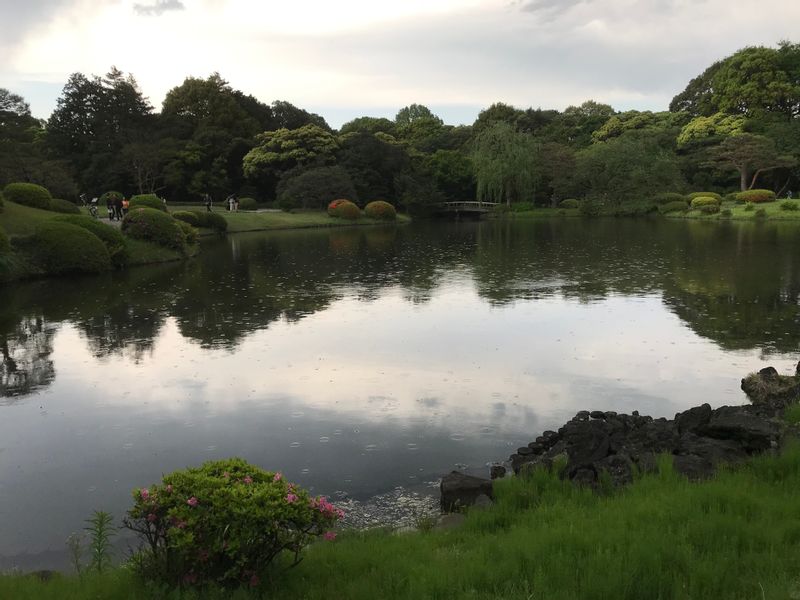
{"label": "pink-flowering green azalea bush on the near bank in the foreground", "polygon": [[258,585],[273,560],[291,564],[314,538],[332,540],[344,513],[242,459],[205,463],[134,490],[125,526],[145,542],[141,574],[170,584]]}

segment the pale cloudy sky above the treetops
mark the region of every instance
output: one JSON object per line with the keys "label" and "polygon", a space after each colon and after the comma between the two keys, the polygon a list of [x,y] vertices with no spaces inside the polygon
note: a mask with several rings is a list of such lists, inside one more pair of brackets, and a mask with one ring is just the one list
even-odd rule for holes
{"label": "pale cloudy sky above the treetops", "polygon": [[132,73],[160,109],[217,71],[334,127],[425,104],[666,110],[715,60],[800,41],[797,0],[0,0],[0,87],[46,118],[71,73]]}

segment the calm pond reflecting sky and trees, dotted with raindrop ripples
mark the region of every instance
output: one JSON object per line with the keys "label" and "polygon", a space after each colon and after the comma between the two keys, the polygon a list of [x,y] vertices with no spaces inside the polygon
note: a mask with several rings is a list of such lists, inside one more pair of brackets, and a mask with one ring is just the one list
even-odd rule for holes
{"label": "calm pond reflecting sky and trees, dotted with raindrop ripples", "polygon": [[624,219],[239,234],[4,285],[0,569],[65,566],[92,510],[210,459],[386,504],[578,410],[740,404],[793,371],[799,299],[800,227]]}

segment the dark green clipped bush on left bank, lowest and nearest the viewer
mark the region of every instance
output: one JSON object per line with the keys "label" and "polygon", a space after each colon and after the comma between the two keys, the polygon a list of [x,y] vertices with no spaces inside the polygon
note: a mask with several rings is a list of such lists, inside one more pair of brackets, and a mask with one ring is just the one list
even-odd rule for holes
{"label": "dark green clipped bush on left bank, lowest and nearest the viewer", "polygon": [[51,275],[100,273],[111,268],[111,258],[100,238],[72,223],[42,223],[23,240],[21,248],[34,264]]}

